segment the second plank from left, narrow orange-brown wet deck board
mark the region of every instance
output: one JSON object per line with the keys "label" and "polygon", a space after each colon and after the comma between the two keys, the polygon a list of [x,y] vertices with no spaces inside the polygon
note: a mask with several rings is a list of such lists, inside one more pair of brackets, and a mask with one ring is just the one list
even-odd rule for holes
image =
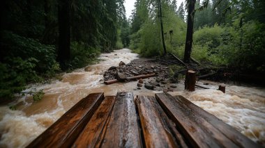
{"label": "second plank from left, narrow orange-brown wet deck board", "polygon": [[107,117],[112,112],[114,102],[115,96],[105,97],[72,147],[96,147],[100,133],[102,133],[107,122]]}

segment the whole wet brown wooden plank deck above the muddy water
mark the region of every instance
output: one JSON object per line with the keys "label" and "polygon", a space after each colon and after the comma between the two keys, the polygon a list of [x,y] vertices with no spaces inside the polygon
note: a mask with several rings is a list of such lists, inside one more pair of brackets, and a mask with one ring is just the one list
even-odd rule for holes
{"label": "whole wet brown wooden plank deck above the muddy water", "polygon": [[184,97],[89,94],[27,147],[261,147]]}

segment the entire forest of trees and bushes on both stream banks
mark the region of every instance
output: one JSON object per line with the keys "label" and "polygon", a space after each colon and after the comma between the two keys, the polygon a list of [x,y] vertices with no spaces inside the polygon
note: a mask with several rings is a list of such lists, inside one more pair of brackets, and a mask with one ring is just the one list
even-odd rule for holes
{"label": "entire forest of trees and bushes on both stream banks", "polygon": [[264,74],[265,1],[176,3],[137,0],[126,18],[124,0],[1,1],[1,100],[123,47]]}

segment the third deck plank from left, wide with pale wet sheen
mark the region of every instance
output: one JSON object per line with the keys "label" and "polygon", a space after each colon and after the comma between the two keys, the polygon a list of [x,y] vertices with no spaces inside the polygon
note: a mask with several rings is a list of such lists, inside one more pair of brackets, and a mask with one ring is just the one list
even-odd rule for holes
{"label": "third deck plank from left, wide with pale wet sheen", "polygon": [[132,92],[118,92],[101,147],[141,147]]}

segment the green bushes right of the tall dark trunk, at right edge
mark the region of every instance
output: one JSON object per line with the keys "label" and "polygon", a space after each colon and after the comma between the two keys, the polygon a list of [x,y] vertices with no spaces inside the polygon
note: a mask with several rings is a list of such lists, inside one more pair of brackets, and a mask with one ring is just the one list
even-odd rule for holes
{"label": "green bushes right of the tall dark trunk, at right edge", "polygon": [[[239,26],[204,27],[194,33],[192,56],[215,65],[232,65],[241,69],[264,71],[265,26],[250,21]],[[258,68],[258,69],[257,69]]]}

